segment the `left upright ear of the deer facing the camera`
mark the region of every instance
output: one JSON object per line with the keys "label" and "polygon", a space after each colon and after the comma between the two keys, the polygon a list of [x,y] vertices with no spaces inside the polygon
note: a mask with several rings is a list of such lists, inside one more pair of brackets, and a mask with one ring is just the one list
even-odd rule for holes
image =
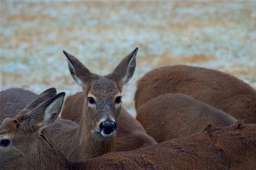
{"label": "left upright ear of the deer facing the camera", "polygon": [[87,82],[92,73],[77,58],[64,50],[63,53],[66,56],[71,76],[75,82],[82,87],[82,82]]}

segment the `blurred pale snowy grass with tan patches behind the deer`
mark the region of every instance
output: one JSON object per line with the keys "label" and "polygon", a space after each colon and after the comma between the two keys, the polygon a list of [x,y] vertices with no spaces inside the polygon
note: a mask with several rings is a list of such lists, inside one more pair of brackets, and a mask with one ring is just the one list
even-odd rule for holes
{"label": "blurred pale snowy grass with tan patches behind the deer", "polygon": [[111,73],[138,47],[122,105],[135,116],[135,82],[166,65],[234,75],[256,88],[256,1],[2,1],[1,91],[81,91],[62,52]]}

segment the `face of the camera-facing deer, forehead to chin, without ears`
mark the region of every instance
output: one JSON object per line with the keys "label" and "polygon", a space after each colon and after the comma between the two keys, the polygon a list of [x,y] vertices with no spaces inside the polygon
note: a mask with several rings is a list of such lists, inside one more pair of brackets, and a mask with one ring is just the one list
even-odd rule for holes
{"label": "face of the camera-facing deer, forehead to chin, without ears", "polygon": [[117,129],[121,111],[121,91],[107,77],[98,77],[87,92],[83,107],[88,128],[97,138],[111,137]]}

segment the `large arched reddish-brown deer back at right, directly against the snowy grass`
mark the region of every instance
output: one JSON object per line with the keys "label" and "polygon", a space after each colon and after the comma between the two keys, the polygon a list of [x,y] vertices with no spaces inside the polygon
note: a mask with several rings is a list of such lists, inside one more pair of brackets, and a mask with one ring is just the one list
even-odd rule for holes
{"label": "large arched reddish-brown deer back at right, directly against the snowy grass", "polygon": [[154,69],[137,81],[136,111],[166,93],[185,94],[238,120],[256,123],[256,90],[230,74],[184,65]]}

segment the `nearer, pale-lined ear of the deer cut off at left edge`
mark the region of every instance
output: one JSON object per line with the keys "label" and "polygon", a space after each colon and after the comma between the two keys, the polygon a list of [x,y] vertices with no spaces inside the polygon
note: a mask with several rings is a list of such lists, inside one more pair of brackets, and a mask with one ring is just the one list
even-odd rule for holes
{"label": "nearer, pale-lined ear of the deer cut off at left edge", "polygon": [[59,112],[61,111],[64,96],[65,92],[61,92],[51,99],[45,101],[45,103],[36,109],[35,113],[39,110],[43,111],[41,114],[39,112],[38,115],[38,118],[40,119],[40,122],[37,123],[37,126],[39,126],[39,129],[37,130],[38,132],[49,126],[58,117]]}

